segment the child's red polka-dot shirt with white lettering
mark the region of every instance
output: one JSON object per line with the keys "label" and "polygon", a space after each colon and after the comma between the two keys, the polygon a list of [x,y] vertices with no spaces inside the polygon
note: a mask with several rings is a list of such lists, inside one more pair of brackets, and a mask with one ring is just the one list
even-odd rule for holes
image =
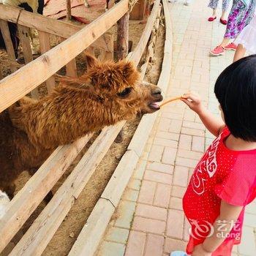
{"label": "child's red polka-dot shirt with white lettering", "polygon": [[[232,151],[225,146],[230,131],[225,128],[195,167],[183,198],[184,213],[192,225],[187,253],[211,235],[219,217],[221,200],[234,206],[246,206],[256,197],[256,149]],[[231,255],[233,244],[239,244],[244,208],[233,230],[212,256]],[[225,223],[219,223],[225,231]]]}

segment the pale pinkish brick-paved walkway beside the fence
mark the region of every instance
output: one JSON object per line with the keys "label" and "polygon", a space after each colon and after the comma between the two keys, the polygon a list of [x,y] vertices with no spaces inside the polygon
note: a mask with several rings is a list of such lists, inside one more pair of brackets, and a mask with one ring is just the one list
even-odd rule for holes
{"label": "pale pinkish brick-paved walkway beside the fence", "polygon": [[[206,22],[205,0],[170,4],[173,20],[173,70],[168,97],[197,91],[208,108],[219,115],[213,87],[217,75],[232,62],[233,53],[210,58],[208,51],[220,42],[225,27]],[[181,198],[197,161],[213,137],[200,119],[182,102],[163,108],[151,132],[129,186],[97,255],[162,256],[184,250],[189,225]],[[246,212],[244,238],[233,255],[256,255],[256,203]]]}

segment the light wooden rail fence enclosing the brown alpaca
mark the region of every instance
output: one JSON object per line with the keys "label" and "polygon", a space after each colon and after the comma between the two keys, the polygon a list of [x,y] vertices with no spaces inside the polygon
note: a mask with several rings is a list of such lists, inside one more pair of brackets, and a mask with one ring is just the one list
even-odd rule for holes
{"label": "light wooden rail fence enclosing the brown alpaca", "polygon": [[[151,36],[151,31],[154,28],[154,23],[157,20],[160,8],[159,2],[160,0],[154,2],[153,10],[148,18],[142,37],[135,50],[127,57],[136,65],[138,65],[143,55],[148,39]],[[0,80],[0,112],[29,92],[37,89],[37,86],[45,81],[48,90],[51,91],[55,83],[53,75],[65,65],[68,75],[76,75],[74,59],[86,48],[97,47],[113,56],[113,37],[110,34],[105,34],[105,32],[127,12],[129,12],[129,0],[121,0],[97,20],[80,29],[80,27],[70,23],[52,20],[26,11],[20,12],[15,8],[0,4],[0,26],[1,31],[4,31],[4,40],[8,45],[9,59],[15,61],[14,50],[10,43],[10,34],[7,31],[7,21],[18,23],[19,31],[23,33],[22,37],[24,37],[23,39],[20,38],[21,45],[23,46],[23,51],[27,52],[24,53],[24,57],[27,54],[27,59],[25,58],[27,64],[20,67],[20,69],[12,65],[12,71],[14,72]],[[25,38],[29,28],[39,31],[39,42],[43,54],[35,60],[31,59],[31,49],[29,50],[27,46],[29,42]],[[49,34],[67,39],[50,49]],[[34,96],[37,97],[36,92]],[[39,214],[39,217],[20,239],[10,255],[34,256],[42,254],[124,124],[125,121],[122,121],[113,127],[102,129],[102,132],[80,159],[78,165],[72,170],[64,184],[61,185],[52,200],[50,200],[50,203]],[[91,136],[86,136],[70,145],[56,148],[53,154],[39,167],[37,173],[29,179],[26,185],[11,200],[7,213],[0,220],[0,252],[39,206],[39,203],[42,202],[45,195],[48,194],[65,170],[72,164],[72,161],[86,146],[90,138]],[[77,255],[74,250],[72,255]]]}

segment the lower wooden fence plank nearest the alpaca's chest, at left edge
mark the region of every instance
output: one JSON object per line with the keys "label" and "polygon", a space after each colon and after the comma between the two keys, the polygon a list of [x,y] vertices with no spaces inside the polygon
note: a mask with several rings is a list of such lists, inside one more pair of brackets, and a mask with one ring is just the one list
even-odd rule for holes
{"label": "lower wooden fence plank nearest the alpaca's chest, at left edge", "polygon": [[11,200],[7,214],[0,220],[0,252],[10,242],[26,219],[53,188],[91,136],[81,138],[67,146],[59,146],[39,167],[26,185]]}

